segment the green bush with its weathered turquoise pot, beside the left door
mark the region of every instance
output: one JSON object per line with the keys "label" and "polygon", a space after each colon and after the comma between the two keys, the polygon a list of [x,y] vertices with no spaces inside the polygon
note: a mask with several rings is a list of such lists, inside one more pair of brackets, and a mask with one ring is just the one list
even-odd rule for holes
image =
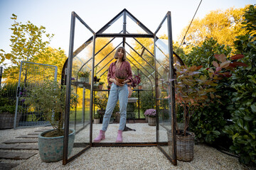
{"label": "green bush with its weathered turquoise pot, beside the left door", "polygon": [[[63,114],[65,111],[65,86],[60,87],[56,81],[46,80],[30,89],[24,103],[28,109],[43,113],[43,118],[53,126],[38,135],[38,149],[43,162],[57,162],[63,159]],[[78,103],[78,96],[71,93],[71,110]],[[72,152],[75,130],[70,129],[68,135],[68,155]]]}

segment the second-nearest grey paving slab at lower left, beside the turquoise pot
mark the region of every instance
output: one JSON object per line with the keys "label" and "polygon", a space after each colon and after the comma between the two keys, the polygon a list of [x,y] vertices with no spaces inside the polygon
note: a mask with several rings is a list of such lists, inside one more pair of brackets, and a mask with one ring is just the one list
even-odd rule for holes
{"label": "second-nearest grey paving slab at lower left, beside the turquoise pot", "polygon": [[36,152],[0,152],[0,159],[28,159],[33,155],[37,154]]}

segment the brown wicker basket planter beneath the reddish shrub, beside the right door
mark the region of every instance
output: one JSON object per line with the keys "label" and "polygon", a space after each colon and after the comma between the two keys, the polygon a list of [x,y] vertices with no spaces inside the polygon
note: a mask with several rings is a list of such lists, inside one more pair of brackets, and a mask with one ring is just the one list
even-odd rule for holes
{"label": "brown wicker basket planter beneath the reddish shrub, beside the right door", "polygon": [[185,137],[176,135],[177,159],[183,162],[190,162],[193,159],[193,146],[195,134],[187,132]]}

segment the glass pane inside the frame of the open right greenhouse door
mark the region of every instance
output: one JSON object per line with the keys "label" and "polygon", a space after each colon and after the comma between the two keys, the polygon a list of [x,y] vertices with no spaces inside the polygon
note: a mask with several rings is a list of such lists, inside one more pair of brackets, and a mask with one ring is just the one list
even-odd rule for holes
{"label": "glass pane inside the frame of the open right greenhouse door", "polygon": [[171,134],[171,94],[170,94],[170,61],[167,18],[162,23],[160,30],[156,33],[155,42],[157,77],[157,103],[159,106],[159,145],[164,152],[173,159],[173,144]]}

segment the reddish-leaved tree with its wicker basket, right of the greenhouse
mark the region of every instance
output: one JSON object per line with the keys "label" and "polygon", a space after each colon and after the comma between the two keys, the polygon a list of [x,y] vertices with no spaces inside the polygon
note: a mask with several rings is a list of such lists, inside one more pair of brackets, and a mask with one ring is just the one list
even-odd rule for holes
{"label": "reddish-leaved tree with its wicker basket, right of the greenhouse", "polygon": [[[220,96],[215,95],[215,86],[223,77],[230,77],[228,69],[234,69],[238,65],[244,66],[235,60],[243,55],[234,55],[227,60],[225,55],[215,55],[217,61],[213,61],[213,67],[203,70],[203,66],[176,66],[175,99],[176,105],[183,108],[183,126],[176,123],[176,146],[177,159],[191,161],[193,159],[193,143],[195,134],[188,131],[191,116],[195,114],[198,107],[208,106],[213,101],[218,101]],[[219,101],[220,103],[220,101]],[[183,129],[181,129],[181,127]]]}

